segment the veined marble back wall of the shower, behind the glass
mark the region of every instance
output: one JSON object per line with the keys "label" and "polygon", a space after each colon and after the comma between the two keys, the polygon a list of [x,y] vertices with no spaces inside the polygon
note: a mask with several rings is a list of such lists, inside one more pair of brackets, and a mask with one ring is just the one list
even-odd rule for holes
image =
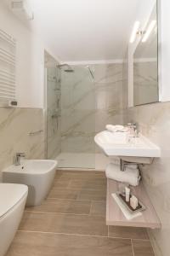
{"label": "veined marble back wall of the shower, behind the glass", "polygon": [[61,152],[94,153],[94,135],[122,124],[122,64],[89,67],[94,79],[85,66],[62,73]]}

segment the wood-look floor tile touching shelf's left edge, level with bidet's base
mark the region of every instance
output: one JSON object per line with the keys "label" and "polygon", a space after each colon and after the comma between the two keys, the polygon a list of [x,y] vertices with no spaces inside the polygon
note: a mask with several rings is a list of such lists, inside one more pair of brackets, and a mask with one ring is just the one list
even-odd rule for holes
{"label": "wood-look floor tile touching shelf's left edge, level with bidet's base", "polygon": [[78,200],[91,200],[91,201],[105,201],[106,200],[106,189],[84,189],[80,191]]}

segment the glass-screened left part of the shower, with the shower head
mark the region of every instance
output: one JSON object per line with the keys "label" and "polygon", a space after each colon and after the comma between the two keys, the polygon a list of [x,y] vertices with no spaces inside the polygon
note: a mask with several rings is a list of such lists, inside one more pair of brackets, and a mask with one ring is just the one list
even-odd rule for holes
{"label": "glass-screened left part of the shower, with the shower head", "polygon": [[48,159],[61,168],[95,168],[93,71],[64,64],[46,74]]}

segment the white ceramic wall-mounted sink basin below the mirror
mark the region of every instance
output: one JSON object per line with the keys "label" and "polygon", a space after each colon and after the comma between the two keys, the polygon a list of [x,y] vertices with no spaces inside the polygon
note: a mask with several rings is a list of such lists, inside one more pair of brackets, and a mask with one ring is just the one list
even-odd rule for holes
{"label": "white ceramic wall-mounted sink basin below the mirror", "polygon": [[[116,136],[116,135],[114,135]],[[139,137],[129,137],[124,143],[119,137],[120,143],[114,140],[111,131],[101,131],[95,137],[95,143],[108,156],[130,156],[130,157],[160,157],[161,150],[156,144],[151,143],[149,139],[139,134]]]}

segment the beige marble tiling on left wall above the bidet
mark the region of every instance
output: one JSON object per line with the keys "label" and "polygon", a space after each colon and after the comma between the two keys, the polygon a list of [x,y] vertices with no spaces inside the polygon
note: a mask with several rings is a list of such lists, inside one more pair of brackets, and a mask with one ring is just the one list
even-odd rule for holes
{"label": "beige marble tiling on left wall above the bidet", "polygon": [[[36,108],[0,108],[0,170],[11,165],[17,152],[27,159],[44,158],[43,110]],[[1,171],[0,171],[1,179]]]}

